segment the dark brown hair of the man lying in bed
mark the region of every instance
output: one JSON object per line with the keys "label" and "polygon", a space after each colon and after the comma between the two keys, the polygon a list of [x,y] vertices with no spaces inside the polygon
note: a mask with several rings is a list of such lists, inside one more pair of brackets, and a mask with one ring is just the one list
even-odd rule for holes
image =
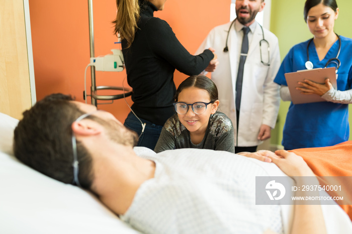
{"label": "dark brown hair of the man lying in bed", "polygon": [[[84,112],[72,97],[51,94],[23,112],[14,133],[14,153],[24,164],[64,183],[73,182],[71,124]],[[87,118],[90,118],[88,116]],[[93,181],[92,157],[77,141],[79,182],[89,189]]]}

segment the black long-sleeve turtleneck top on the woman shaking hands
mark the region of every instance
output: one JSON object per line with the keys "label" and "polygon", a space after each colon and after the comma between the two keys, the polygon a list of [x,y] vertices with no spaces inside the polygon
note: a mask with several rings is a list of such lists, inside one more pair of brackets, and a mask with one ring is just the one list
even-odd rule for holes
{"label": "black long-sleeve turtleneck top on the woman shaking hands", "polygon": [[[133,88],[133,111],[139,118],[163,126],[173,115],[173,82],[175,69],[187,74],[201,73],[213,59],[210,50],[191,55],[179,42],[170,26],[153,17],[156,7],[147,2],[141,6],[138,30],[130,48],[122,40],[127,81]],[[192,35],[190,35],[191,37]]]}

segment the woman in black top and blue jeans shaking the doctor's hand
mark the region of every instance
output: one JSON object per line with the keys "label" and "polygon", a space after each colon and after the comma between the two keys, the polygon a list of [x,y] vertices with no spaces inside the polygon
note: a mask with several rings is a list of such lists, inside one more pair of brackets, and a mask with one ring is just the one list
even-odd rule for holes
{"label": "woman in black top and blue jeans shaking the doctor's hand", "polygon": [[[154,149],[162,126],[174,114],[175,69],[187,74],[201,73],[214,58],[211,50],[191,55],[181,45],[170,26],[153,17],[166,0],[117,0],[115,33],[122,39],[128,84],[133,88],[133,112],[125,126],[140,135],[138,146]],[[128,13],[128,14],[127,14]],[[212,61],[214,63],[214,60]]]}

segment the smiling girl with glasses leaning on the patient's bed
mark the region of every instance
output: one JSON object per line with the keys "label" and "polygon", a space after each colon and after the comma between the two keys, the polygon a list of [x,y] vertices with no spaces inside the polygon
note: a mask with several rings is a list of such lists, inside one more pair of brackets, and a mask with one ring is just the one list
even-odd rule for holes
{"label": "smiling girl with glasses leaning on the patient's bed", "polygon": [[234,153],[231,120],[217,111],[218,89],[206,76],[190,76],[175,94],[174,109],[161,130],[156,153],[164,150],[197,148]]}

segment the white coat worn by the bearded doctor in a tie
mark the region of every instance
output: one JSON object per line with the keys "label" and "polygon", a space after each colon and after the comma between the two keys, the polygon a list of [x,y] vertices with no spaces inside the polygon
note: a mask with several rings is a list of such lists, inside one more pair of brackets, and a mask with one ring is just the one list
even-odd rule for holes
{"label": "white coat worn by the bearded doctor in a tie", "polygon": [[[263,65],[259,47],[259,41],[262,40],[263,35],[258,23],[254,22],[257,25],[249,42],[249,50],[244,64],[238,138],[236,138],[235,92],[240,54],[237,40],[242,41],[242,38],[237,38],[233,25],[228,37],[229,51],[223,52],[230,24],[231,22],[211,30],[196,54],[209,47],[215,49],[219,65],[211,77],[219,91],[219,110],[225,113],[233,123],[235,146],[257,146],[261,143],[257,140],[260,126],[265,124],[274,128],[279,112],[280,89],[279,85],[274,83],[274,78],[281,63],[278,38],[269,30],[263,28],[265,39],[270,45],[270,66]],[[263,44],[263,61],[268,61],[266,48],[267,46]]]}

